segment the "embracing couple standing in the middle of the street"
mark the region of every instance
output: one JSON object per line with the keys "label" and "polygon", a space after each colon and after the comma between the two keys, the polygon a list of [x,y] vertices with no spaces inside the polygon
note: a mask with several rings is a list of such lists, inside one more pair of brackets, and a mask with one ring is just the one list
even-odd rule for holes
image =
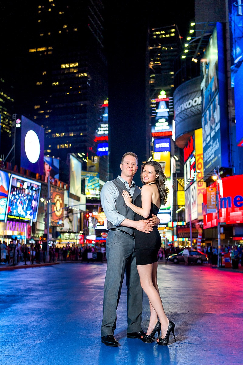
{"label": "embracing couple standing in the middle of the street", "polygon": [[[171,332],[175,338],[175,324],[165,314],[157,285],[157,254],[161,237],[157,229],[160,220],[156,216],[160,205],[167,199],[166,177],[158,162],[148,161],[141,166],[144,185],[140,190],[133,181],[138,169],[138,158],[133,152],[122,156],[120,168],[121,176],[107,181],[101,190],[101,204],[109,229],[101,342],[107,346],[119,346],[114,330],[126,273],[127,337],[150,343],[158,333],[158,345],[168,345]],[[150,306],[146,333],[141,328],[143,290],[148,295]]]}

